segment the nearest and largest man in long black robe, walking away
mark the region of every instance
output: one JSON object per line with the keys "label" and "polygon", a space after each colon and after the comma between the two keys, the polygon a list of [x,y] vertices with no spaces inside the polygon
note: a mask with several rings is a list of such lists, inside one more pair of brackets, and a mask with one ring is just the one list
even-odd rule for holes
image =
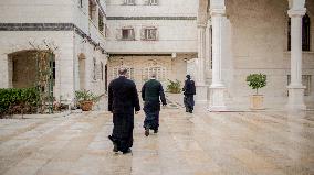
{"label": "nearest and largest man in long black robe, walking away", "polygon": [[133,80],[126,77],[127,69],[119,69],[119,77],[108,86],[108,110],[113,113],[114,129],[108,138],[114,152],[130,153],[133,145],[134,110],[140,110],[138,94]]}

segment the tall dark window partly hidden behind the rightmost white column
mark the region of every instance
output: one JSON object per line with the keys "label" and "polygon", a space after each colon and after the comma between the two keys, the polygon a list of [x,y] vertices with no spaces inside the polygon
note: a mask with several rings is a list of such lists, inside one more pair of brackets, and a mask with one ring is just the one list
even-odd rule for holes
{"label": "tall dark window partly hidden behind the rightmost white column", "polygon": [[[310,51],[310,17],[305,14],[302,18],[302,51]],[[291,51],[291,18],[287,21],[287,51]]]}

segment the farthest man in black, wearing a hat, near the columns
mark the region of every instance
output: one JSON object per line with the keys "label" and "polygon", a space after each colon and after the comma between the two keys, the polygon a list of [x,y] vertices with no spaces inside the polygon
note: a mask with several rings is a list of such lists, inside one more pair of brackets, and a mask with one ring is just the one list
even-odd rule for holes
{"label": "farthest man in black, wearing a hat, near the columns", "polygon": [[191,80],[191,76],[187,75],[187,80],[185,81],[185,87],[184,87],[184,102],[186,107],[186,112],[193,112],[193,107],[195,107],[195,99],[193,96],[196,95],[196,86],[195,81]]}

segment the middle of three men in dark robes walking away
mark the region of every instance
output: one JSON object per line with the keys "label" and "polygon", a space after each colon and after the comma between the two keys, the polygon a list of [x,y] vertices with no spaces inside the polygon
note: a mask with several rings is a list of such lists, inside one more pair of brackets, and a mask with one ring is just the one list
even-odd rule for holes
{"label": "middle of three men in dark robes walking away", "polygon": [[163,89],[163,85],[156,80],[156,74],[151,74],[151,78],[146,81],[142,88],[142,98],[144,101],[144,128],[145,135],[149,135],[149,129],[154,130],[154,133],[158,132],[159,128],[159,111],[160,111],[160,100],[163,106],[166,106],[166,98]]}

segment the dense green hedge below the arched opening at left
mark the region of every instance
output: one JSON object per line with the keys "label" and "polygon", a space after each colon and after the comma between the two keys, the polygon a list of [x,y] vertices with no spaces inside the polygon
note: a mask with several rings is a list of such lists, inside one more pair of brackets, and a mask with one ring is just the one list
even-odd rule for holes
{"label": "dense green hedge below the arched opening at left", "polygon": [[0,116],[32,113],[39,103],[36,88],[0,89]]}

